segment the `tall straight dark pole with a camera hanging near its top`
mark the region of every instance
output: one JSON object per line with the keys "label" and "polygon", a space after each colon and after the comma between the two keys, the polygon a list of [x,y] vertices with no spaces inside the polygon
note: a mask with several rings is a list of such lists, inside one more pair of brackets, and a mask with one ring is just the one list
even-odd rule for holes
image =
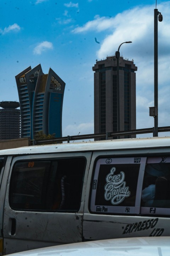
{"label": "tall straight dark pole with a camera hanging near its top", "polygon": [[[159,16],[158,16],[159,15]],[[158,9],[154,9],[154,130],[153,137],[158,137],[158,20],[163,17]]]}

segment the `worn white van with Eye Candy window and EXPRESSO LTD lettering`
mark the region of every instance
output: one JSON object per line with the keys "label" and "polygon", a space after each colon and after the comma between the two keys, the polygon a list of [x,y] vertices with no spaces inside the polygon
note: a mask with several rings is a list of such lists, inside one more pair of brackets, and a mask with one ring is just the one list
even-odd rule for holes
{"label": "worn white van with Eye Candy window and EXPRESSO LTD lettering", "polygon": [[170,236],[170,137],[0,150],[2,254]]}

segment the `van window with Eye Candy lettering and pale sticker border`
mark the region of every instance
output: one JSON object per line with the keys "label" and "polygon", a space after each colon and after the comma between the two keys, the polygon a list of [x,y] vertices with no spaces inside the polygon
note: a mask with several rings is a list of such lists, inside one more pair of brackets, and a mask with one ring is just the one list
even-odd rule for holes
{"label": "van window with Eye Candy lettering and pale sticker border", "polygon": [[90,210],[96,213],[135,213],[142,158],[102,158],[96,162]]}

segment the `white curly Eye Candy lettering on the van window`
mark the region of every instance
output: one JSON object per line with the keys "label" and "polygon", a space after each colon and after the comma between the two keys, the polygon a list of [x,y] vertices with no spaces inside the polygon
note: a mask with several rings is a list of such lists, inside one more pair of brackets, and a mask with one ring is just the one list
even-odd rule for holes
{"label": "white curly Eye Candy lettering on the van window", "polygon": [[105,200],[111,200],[112,204],[119,204],[123,202],[125,197],[130,196],[129,187],[126,187],[125,174],[120,172],[118,175],[114,175],[116,168],[113,167],[110,173],[106,176],[106,185],[104,186],[104,198]]}

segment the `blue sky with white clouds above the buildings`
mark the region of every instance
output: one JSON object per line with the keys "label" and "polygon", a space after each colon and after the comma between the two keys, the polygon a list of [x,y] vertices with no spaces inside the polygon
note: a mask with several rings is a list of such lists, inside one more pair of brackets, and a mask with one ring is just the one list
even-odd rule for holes
{"label": "blue sky with white clouds above the buildings", "polygon": [[[40,63],[45,74],[51,67],[66,83],[63,136],[94,133],[92,66],[114,55],[120,43],[132,41],[121,46],[120,54],[138,67],[136,128],[153,127],[155,5],[156,0],[1,0],[0,101],[18,101],[15,76]],[[158,22],[162,127],[170,126],[170,1],[157,0],[157,9],[163,15]]]}

